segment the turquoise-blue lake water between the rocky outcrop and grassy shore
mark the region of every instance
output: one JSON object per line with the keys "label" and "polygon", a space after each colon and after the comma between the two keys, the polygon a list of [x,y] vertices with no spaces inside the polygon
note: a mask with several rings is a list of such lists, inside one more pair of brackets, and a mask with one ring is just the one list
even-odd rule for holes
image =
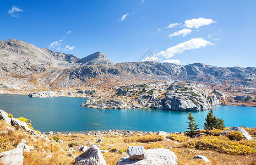
{"label": "turquoise-blue lake water between the rocky outcrop and grassy shore", "polygon": [[[30,98],[24,95],[0,95],[0,109],[14,117],[29,118],[40,131],[139,130],[184,131],[188,112],[160,109],[91,109],[80,107],[86,98]],[[256,107],[215,106],[214,115],[224,119],[226,127],[243,124],[256,127]],[[199,128],[203,128],[209,111],[192,112]]]}

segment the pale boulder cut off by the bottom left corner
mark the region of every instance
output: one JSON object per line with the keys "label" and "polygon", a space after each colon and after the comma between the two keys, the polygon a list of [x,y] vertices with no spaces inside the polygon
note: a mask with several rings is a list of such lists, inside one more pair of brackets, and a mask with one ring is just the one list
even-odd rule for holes
{"label": "pale boulder cut off by the bottom left corner", "polygon": [[0,153],[0,162],[8,165],[23,165],[23,150],[13,149]]}

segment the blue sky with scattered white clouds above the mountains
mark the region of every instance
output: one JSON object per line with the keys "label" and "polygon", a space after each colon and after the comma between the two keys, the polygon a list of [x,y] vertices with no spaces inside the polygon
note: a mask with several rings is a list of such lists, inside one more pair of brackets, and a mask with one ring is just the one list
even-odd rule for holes
{"label": "blue sky with scattered white clouds above the mountains", "polygon": [[255,0],[0,2],[0,40],[115,63],[256,67]]}

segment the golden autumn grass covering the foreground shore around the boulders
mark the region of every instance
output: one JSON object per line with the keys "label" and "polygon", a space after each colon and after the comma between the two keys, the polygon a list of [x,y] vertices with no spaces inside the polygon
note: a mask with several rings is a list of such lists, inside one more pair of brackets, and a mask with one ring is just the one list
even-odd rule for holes
{"label": "golden autumn grass covering the foreground shore around the boulders", "polygon": [[[0,123],[0,128],[5,131],[6,123]],[[216,135],[216,134],[215,134]],[[122,157],[126,156],[127,147],[140,145],[147,149],[165,148],[175,152],[178,158],[178,164],[208,164],[200,160],[193,160],[192,158],[196,155],[204,155],[210,160],[210,164],[252,164],[256,165],[256,152],[248,152],[247,155],[231,155],[232,152],[226,154],[220,152],[223,150],[236,150],[237,146],[239,149],[235,154],[243,154],[244,151],[252,151],[255,149],[255,140],[241,140],[241,141],[230,141],[226,136],[203,136],[201,138],[186,138],[184,134],[171,134],[170,139],[164,139],[159,135],[143,135],[143,136],[129,136],[124,137],[121,135],[102,135],[104,142],[97,144],[97,135],[82,135],[73,134],[69,135],[57,135],[64,142],[57,143],[53,140],[54,136],[48,136],[51,141],[48,142],[45,139],[37,138],[36,141],[33,139],[35,136],[24,134],[23,131],[7,131],[6,134],[0,134],[3,138],[10,142],[10,145],[16,146],[19,144],[21,139],[28,140],[28,145],[34,146],[35,150],[30,152],[24,152],[24,164],[74,164],[75,158],[68,157],[68,153],[72,153],[75,156],[79,156],[82,152],[70,152],[66,151],[69,148],[69,144],[74,142],[74,149],[77,149],[80,145],[87,145],[92,142],[95,145],[100,145],[100,150],[107,150],[111,148],[110,152],[102,153],[107,164],[116,164]],[[121,137],[121,138],[119,138]],[[171,140],[172,139],[172,140]],[[126,141],[126,142],[124,142]],[[149,141],[155,141],[149,144]],[[179,144],[174,144],[174,141],[179,141]],[[47,144],[48,146],[45,146]],[[187,146],[190,144],[190,146]],[[220,146],[219,148],[217,146]],[[64,151],[60,151],[61,147]],[[90,147],[90,146],[89,146]],[[230,147],[230,148],[228,148]],[[248,150],[246,150],[248,149]],[[239,152],[243,151],[243,152]],[[48,155],[52,155],[51,158],[45,158]]]}

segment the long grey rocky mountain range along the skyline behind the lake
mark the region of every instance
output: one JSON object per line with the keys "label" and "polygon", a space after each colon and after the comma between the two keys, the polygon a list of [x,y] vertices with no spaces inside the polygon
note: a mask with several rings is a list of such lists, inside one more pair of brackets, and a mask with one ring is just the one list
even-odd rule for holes
{"label": "long grey rocky mountain range along the skyline behind the lake", "polygon": [[[51,69],[47,69],[51,68]],[[45,73],[53,76],[51,82],[58,78],[66,81],[107,75],[143,75],[165,79],[214,81],[227,80],[255,80],[256,68],[215,67],[202,63],[177,65],[159,62],[110,62],[101,52],[90,54],[79,59],[72,54],[65,54],[37,48],[30,43],[10,38],[4,42],[0,40],[0,73],[14,73],[19,75],[35,75]]]}

